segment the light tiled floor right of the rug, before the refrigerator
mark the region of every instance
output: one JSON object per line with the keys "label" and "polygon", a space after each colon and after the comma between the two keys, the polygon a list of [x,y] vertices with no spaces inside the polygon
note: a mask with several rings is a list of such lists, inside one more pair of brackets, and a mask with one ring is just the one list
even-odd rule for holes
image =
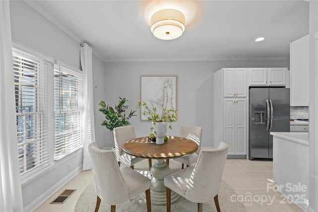
{"label": "light tiled floor right of the rug, before the refrigerator", "polygon": [[222,178],[236,191],[233,200],[246,200],[247,212],[303,212],[271,189],[272,170],[272,161],[227,159]]}

